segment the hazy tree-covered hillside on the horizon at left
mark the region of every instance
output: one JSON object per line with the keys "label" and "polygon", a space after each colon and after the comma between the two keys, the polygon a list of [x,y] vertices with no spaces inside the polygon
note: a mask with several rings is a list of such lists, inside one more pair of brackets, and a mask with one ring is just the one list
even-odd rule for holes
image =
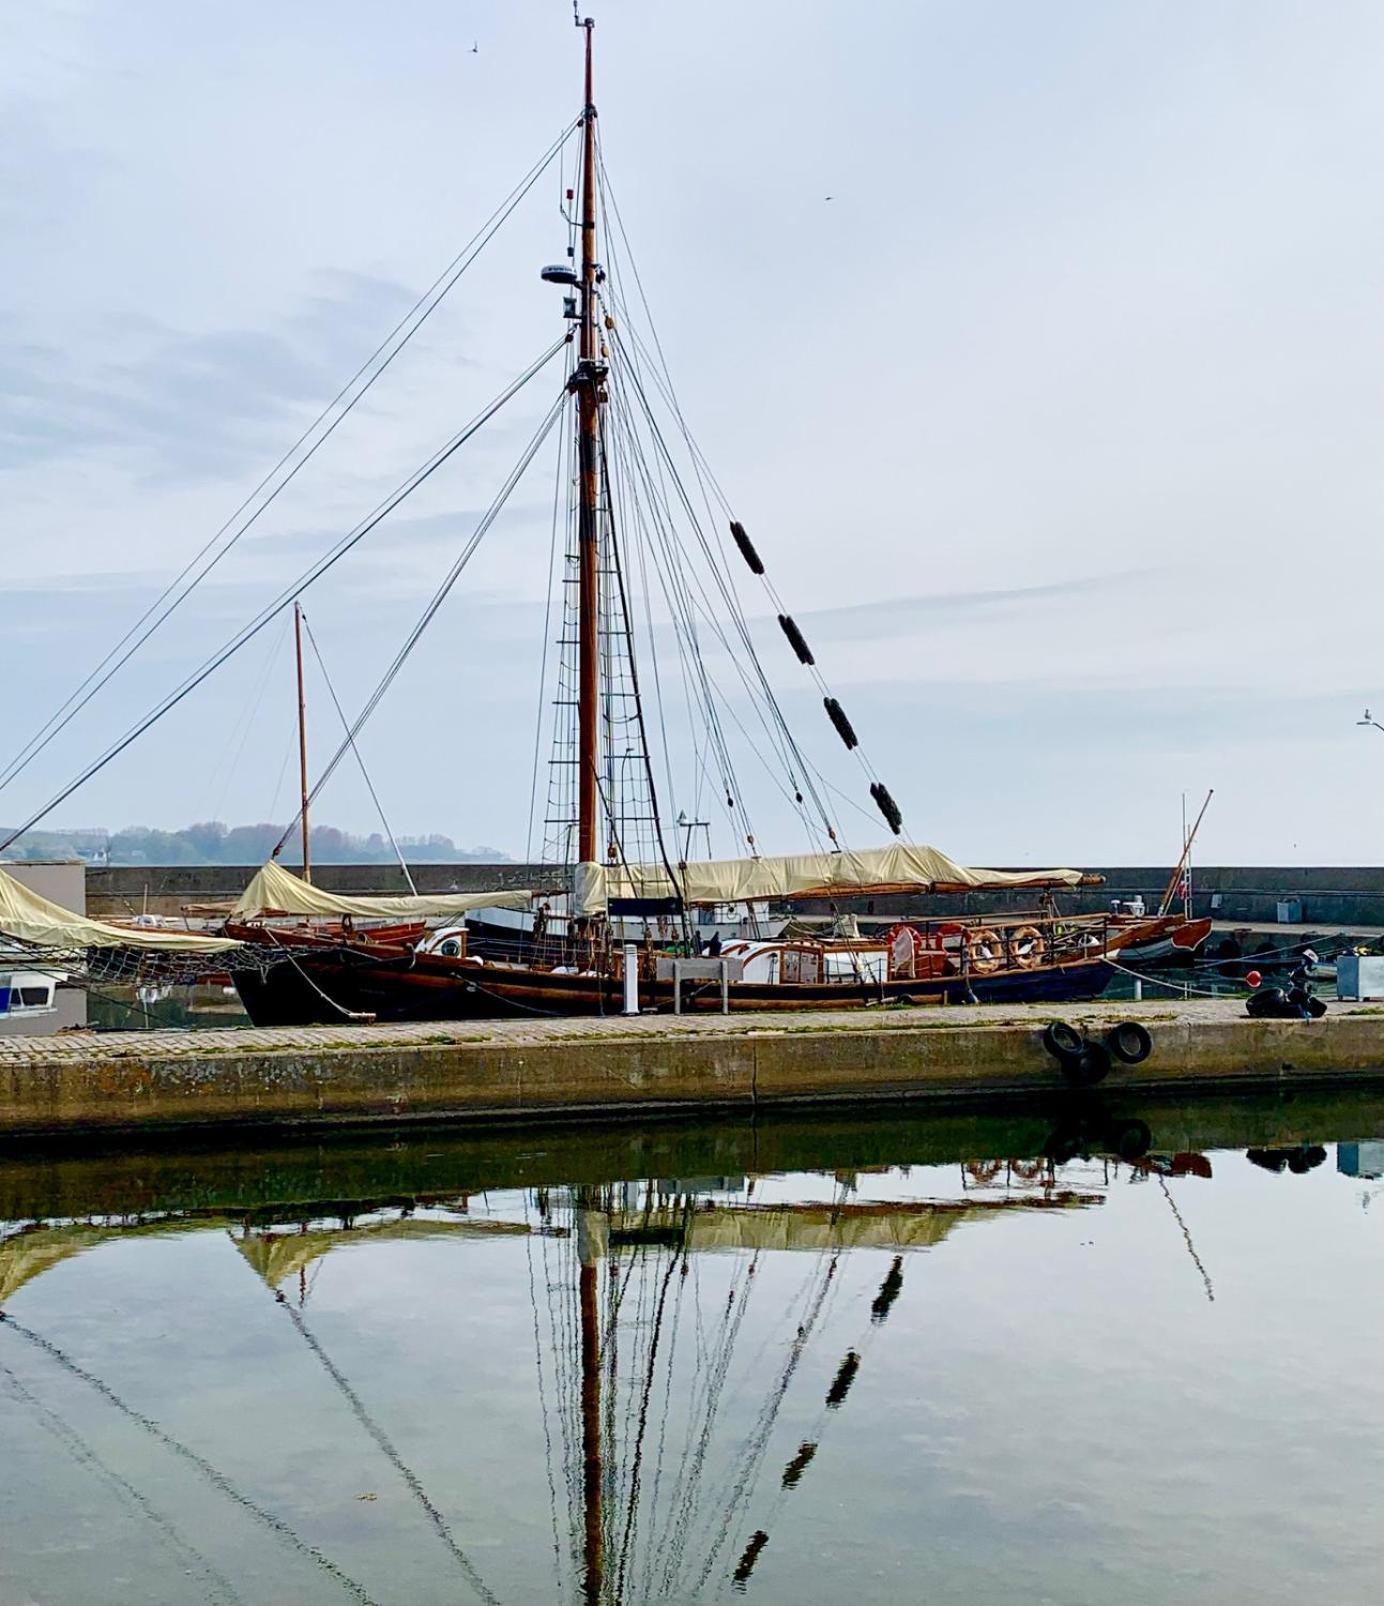
{"label": "hazy tree-covered hillside on the horizon at left", "polygon": [[[181,830],[127,825],[124,830],[31,830],[5,850],[10,859],[88,859],[93,864],[263,864],[283,825],[223,825],[218,819]],[[451,837],[400,837],[400,850],[414,864],[504,864],[498,848],[458,848]],[[387,837],[355,837],[336,825],[315,825],[311,853],[318,864],[392,864]],[[284,862],[297,861],[297,837]]]}

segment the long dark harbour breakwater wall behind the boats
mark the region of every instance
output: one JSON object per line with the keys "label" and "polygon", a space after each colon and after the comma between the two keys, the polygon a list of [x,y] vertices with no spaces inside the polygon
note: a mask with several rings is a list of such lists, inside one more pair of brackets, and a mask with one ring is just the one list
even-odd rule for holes
{"label": "long dark harbour breakwater wall behind the boats", "polygon": [[[258,866],[88,866],[87,912],[96,919],[149,914],[178,915],[199,904],[231,904]],[[414,883],[425,893],[498,891],[543,887],[554,880],[552,866],[538,864],[414,864]],[[1158,907],[1170,866],[1095,869],[1101,887],[1082,887],[1061,895],[1073,912],[1108,909],[1111,899],[1143,898]],[[400,893],[403,877],[393,864],[320,864],[318,887],[337,893]],[[1193,912],[1244,925],[1273,925],[1280,903],[1301,903],[1307,925],[1384,927],[1384,866],[1198,866],[1193,872]],[[1005,914],[1032,909],[1034,893],[965,893],[959,896],[891,896],[843,899],[840,907],[857,915],[960,915]],[[828,904],[800,906],[803,914],[830,914]]]}

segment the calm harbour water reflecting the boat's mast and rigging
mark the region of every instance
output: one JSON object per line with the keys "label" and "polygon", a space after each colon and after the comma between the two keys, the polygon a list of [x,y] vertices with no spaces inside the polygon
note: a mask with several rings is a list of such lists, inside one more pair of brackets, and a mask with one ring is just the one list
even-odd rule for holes
{"label": "calm harbour water reflecting the boat's mast and rigging", "polygon": [[6,1156],[0,1600],[1374,1598],[1374,1134],[1384,1090]]}

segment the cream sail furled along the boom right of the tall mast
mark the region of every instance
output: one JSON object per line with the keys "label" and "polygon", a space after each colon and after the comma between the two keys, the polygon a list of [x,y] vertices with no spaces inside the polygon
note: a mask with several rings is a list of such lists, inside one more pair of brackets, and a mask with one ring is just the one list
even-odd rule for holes
{"label": "cream sail furled along the boom right of the tall mast", "polygon": [[[809,893],[906,888],[920,893],[979,887],[1076,887],[1081,870],[973,870],[936,848],[896,843],[865,853],[796,853],[772,859],[706,859],[679,869],[689,904],[750,903]],[[676,898],[661,864],[578,864],[576,912],[600,914],[615,898]]]}

